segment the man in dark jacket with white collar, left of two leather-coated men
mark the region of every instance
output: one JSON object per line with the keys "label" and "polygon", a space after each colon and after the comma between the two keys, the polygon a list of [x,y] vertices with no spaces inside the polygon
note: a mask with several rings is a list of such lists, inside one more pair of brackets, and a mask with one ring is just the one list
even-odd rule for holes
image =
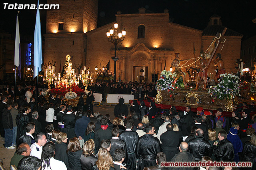
{"label": "man in dark jacket with white collar, left of two leather-coated men", "polygon": [[112,138],[111,141],[111,149],[110,154],[113,157],[115,154],[116,149],[123,149],[124,153],[126,153],[126,145],[125,142],[122,139],[119,139],[119,128],[114,127],[112,129]]}

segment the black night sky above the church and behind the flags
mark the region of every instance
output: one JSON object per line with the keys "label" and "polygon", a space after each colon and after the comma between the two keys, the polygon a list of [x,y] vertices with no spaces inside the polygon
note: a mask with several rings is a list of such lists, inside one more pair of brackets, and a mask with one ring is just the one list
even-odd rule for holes
{"label": "black night sky above the church and behind the flags", "polygon": [[[65,0],[64,0],[65,1]],[[4,10],[3,3],[37,4],[37,0],[4,0],[1,4],[0,29],[14,33],[18,10]],[[40,0],[40,4],[46,4]],[[209,18],[217,14],[225,27],[244,35],[244,39],[256,35],[256,0],[98,0],[98,27],[116,20],[118,10],[122,14],[138,13],[144,7],[156,13],[167,8],[174,23],[203,30]],[[34,35],[36,10],[20,10],[20,34]],[[46,32],[46,10],[40,10],[42,34]],[[14,37],[14,36],[13,36]]]}

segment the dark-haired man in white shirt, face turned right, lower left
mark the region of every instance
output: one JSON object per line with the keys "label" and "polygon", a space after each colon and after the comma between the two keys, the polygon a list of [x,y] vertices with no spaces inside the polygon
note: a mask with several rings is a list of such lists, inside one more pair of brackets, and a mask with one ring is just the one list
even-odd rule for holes
{"label": "dark-haired man in white shirt, face turned right, lower left", "polygon": [[39,132],[39,133],[36,134],[35,141],[36,141],[36,143],[33,143],[33,145],[31,145],[31,147],[30,147],[30,149],[31,149],[30,155],[31,156],[36,156],[39,159],[41,159],[43,146],[47,142],[46,136],[44,135],[44,133]]}

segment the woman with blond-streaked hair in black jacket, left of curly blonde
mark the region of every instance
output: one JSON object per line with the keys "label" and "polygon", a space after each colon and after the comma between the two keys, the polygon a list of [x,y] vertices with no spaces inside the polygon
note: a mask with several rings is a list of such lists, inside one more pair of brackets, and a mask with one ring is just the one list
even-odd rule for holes
{"label": "woman with blond-streaked hair in black jacket, left of curly blonde", "polygon": [[84,143],[83,154],[81,155],[80,162],[82,166],[82,170],[91,170],[92,166],[98,160],[94,153],[94,141],[89,139]]}

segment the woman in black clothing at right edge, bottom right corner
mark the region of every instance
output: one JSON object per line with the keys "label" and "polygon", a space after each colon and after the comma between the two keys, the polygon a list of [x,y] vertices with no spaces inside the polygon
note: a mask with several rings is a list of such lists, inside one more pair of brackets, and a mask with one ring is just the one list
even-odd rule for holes
{"label": "woman in black clothing at right edge, bottom right corner", "polygon": [[246,141],[246,143],[244,143],[244,149],[242,151],[241,158],[240,158],[241,161],[252,162],[252,168],[248,167],[244,169],[248,169],[248,170],[256,169],[255,157],[256,157],[256,133],[254,132],[252,134],[251,140]]}

